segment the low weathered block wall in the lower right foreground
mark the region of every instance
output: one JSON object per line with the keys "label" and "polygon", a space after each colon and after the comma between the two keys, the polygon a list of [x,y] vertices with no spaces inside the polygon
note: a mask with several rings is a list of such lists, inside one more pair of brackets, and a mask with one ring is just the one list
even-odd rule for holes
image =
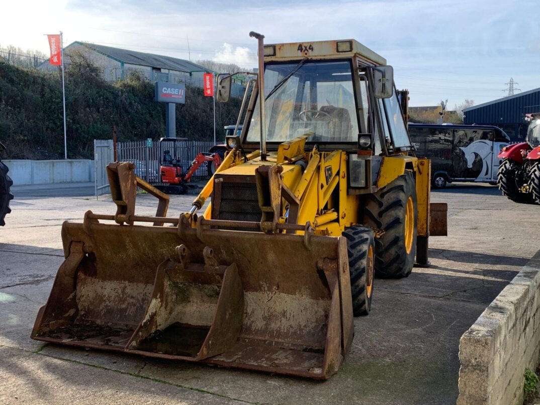
{"label": "low weathered block wall in the lower right foreground", "polygon": [[539,354],[540,251],[461,337],[457,404],[521,405]]}

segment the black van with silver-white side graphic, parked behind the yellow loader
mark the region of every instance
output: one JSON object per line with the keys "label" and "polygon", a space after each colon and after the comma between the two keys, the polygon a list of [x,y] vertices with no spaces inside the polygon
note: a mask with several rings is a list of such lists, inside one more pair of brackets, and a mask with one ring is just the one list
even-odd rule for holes
{"label": "black van with silver-white side graphic, parked behind the yellow loader", "polygon": [[431,184],[443,188],[452,181],[497,181],[497,154],[510,142],[489,125],[409,124],[416,156],[431,159]]}

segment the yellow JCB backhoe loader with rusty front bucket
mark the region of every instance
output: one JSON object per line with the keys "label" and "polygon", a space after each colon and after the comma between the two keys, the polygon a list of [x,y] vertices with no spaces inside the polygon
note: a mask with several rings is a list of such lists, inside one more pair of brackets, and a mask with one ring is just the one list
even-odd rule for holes
{"label": "yellow JCB backhoe loader with rusty front bucket", "polygon": [[[430,165],[414,156],[392,67],[355,40],[250,35],[261,74],[241,136],[191,211],[166,217],[167,195],[109,165],[117,213],[64,223],[33,339],[325,379],[353,315],[369,313],[374,275],[427,264]],[[218,80],[226,102],[231,75]],[[156,217],[135,214],[137,186],[158,197]],[[435,217],[446,233],[444,206]]]}

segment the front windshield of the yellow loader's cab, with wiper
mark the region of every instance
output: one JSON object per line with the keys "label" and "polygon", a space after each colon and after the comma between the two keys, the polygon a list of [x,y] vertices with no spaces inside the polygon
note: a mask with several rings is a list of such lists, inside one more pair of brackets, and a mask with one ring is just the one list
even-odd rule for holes
{"label": "front windshield of the yellow loader's cab, with wiper", "polygon": [[[298,63],[267,65],[268,95]],[[284,142],[313,132],[308,142],[356,141],[353,78],[350,62],[307,62],[266,100],[266,140]],[[260,140],[260,110],[255,104],[247,142]]]}

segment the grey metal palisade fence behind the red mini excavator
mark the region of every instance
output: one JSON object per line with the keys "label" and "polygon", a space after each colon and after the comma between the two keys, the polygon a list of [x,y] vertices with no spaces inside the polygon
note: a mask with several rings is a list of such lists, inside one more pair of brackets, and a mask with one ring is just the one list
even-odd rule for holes
{"label": "grey metal palisade fence behind the red mini excavator", "polygon": [[[182,172],[185,173],[191,165],[192,160],[199,152],[208,152],[214,143],[212,141],[181,141],[176,144],[176,156],[180,160]],[[219,142],[218,142],[219,144]],[[130,161],[136,165],[135,173],[148,183],[159,183],[159,166],[161,157],[165,149],[170,150],[172,145],[161,145],[154,142],[152,146],[147,141],[118,142],[118,161]],[[171,156],[175,156],[175,151],[170,150]],[[201,165],[193,176],[193,180],[208,179],[207,165]]]}

